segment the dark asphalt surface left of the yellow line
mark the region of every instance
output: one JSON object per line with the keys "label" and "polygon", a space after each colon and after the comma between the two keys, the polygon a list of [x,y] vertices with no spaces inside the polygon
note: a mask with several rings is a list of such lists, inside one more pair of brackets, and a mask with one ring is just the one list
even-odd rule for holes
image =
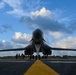
{"label": "dark asphalt surface left of the yellow line", "polygon": [[34,61],[0,60],[0,75],[23,75]]}

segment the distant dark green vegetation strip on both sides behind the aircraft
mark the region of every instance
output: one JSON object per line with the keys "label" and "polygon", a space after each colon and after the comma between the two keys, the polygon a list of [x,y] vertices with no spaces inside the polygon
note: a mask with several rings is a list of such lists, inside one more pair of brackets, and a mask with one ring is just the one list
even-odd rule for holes
{"label": "distant dark green vegetation strip on both sides behind the aircraft", "polygon": [[[4,56],[4,57],[0,57],[0,59],[29,59],[29,56],[23,56],[23,55],[19,55],[19,56]],[[76,59],[76,56],[48,56],[48,59]]]}

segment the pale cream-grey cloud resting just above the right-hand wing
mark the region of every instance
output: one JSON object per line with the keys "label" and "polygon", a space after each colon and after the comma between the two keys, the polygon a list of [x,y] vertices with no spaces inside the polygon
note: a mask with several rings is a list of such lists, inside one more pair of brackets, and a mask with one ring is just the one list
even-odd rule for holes
{"label": "pale cream-grey cloud resting just above the right-hand wing", "polygon": [[58,40],[52,43],[53,46],[62,47],[62,48],[76,48],[76,37],[69,36],[62,40]]}

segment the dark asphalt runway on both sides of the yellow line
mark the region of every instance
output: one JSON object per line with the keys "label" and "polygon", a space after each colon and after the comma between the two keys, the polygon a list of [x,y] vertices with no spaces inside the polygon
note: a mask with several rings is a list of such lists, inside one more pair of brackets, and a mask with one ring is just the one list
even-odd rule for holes
{"label": "dark asphalt runway on both sides of the yellow line", "polygon": [[[23,75],[36,60],[0,60],[0,75]],[[76,75],[76,60],[41,60],[60,75]]]}

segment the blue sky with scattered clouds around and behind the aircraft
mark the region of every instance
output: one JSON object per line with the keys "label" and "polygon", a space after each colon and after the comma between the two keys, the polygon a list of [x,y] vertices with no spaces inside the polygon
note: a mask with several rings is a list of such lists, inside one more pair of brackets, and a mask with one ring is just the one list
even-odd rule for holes
{"label": "blue sky with scattered clouds around and behind the aircraft", "polygon": [[[40,28],[51,47],[76,48],[76,0],[0,0],[0,49],[26,47]],[[76,55],[52,51],[52,55]],[[1,52],[0,56],[19,52]]]}

